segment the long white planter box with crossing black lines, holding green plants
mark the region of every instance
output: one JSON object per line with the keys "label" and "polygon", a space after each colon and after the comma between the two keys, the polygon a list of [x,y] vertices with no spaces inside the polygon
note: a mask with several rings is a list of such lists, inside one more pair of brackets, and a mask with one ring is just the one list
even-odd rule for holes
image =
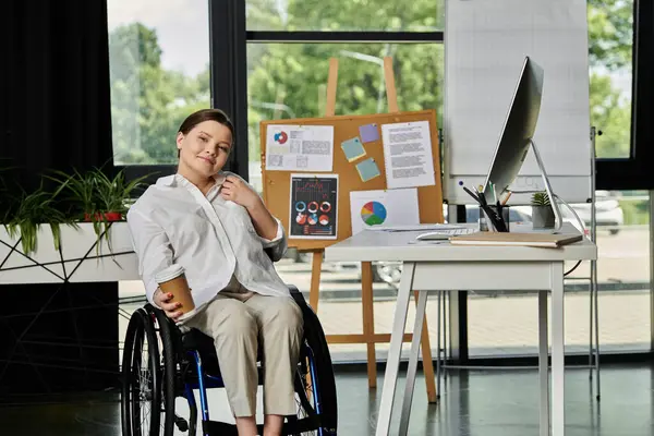
{"label": "long white planter box with crossing black lines, holding green plants", "polygon": [[[126,222],[114,222],[98,243],[89,222],[61,227],[61,252],[55,250],[49,225],[39,227],[37,250],[26,255],[17,238],[0,226],[0,284],[140,280],[136,254]],[[111,254],[113,253],[113,255]]]}

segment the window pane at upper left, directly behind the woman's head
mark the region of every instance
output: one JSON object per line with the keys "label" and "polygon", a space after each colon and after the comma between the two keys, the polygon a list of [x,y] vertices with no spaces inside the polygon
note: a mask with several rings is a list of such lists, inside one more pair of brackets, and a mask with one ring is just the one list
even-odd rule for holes
{"label": "window pane at upper left, directly behind the woman's head", "polygon": [[108,0],[114,165],[177,162],[174,136],[209,107],[208,2]]}

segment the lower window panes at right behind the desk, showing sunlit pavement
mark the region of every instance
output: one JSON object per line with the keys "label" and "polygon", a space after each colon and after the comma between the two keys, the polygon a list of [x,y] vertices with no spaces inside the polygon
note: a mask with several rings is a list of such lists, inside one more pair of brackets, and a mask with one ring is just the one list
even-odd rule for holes
{"label": "lower window panes at right behind the desk, showing sunlit pavement", "polygon": [[[600,191],[596,197],[600,350],[647,351],[651,347],[650,197],[646,191]],[[572,207],[588,225],[589,205]],[[565,267],[573,265],[566,263]],[[566,280],[567,352],[589,351],[589,277],[586,262]],[[471,293],[470,356],[536,354],[537,300],[533,292]]]}

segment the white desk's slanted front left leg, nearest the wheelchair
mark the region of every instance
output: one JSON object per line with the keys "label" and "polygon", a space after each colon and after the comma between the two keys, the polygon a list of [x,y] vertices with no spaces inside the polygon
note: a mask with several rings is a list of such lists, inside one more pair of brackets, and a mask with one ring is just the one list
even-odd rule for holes
{"label": "white desk's slanted front left leg, nearest the wheelchair", "polygon": [[[402,280],[398,291],[398,300],[392,320],[392,332],[390,336],[390,349],[386,362],[386,373],[384,375],[384,387],[382,388],[382,403],[377,415],[376,436],[388,436],[390,431],[390,419],[392,416],[392,401],[398,383],[398,372],[400,368],[400,355],[402,353],[402,340],[404,327],[407,325],[407,312],[409,311],[409,301],[411,300],[411,289],[413,287],[413,272],[415,264],[405,262],[402,267]],[[419,329],[417,331],[421,331]],[[416,332],[414,332],[415,335]],[[419,334],[420,335],[420,334]]]}

